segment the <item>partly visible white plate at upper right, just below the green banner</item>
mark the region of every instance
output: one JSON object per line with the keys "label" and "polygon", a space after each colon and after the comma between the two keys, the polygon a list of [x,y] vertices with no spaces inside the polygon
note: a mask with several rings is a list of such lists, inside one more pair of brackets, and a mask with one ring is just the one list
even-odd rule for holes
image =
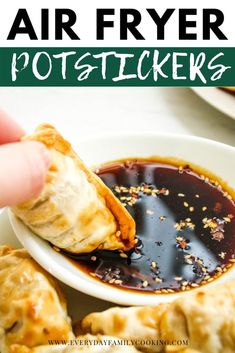
{"label": "partly visible white plate at upper right, just below the green banner", "polygon": [[[204,101],[235,119],[235,94],[218,87],[191,87]],[[234,92],[235,93],[235,92]]]}

